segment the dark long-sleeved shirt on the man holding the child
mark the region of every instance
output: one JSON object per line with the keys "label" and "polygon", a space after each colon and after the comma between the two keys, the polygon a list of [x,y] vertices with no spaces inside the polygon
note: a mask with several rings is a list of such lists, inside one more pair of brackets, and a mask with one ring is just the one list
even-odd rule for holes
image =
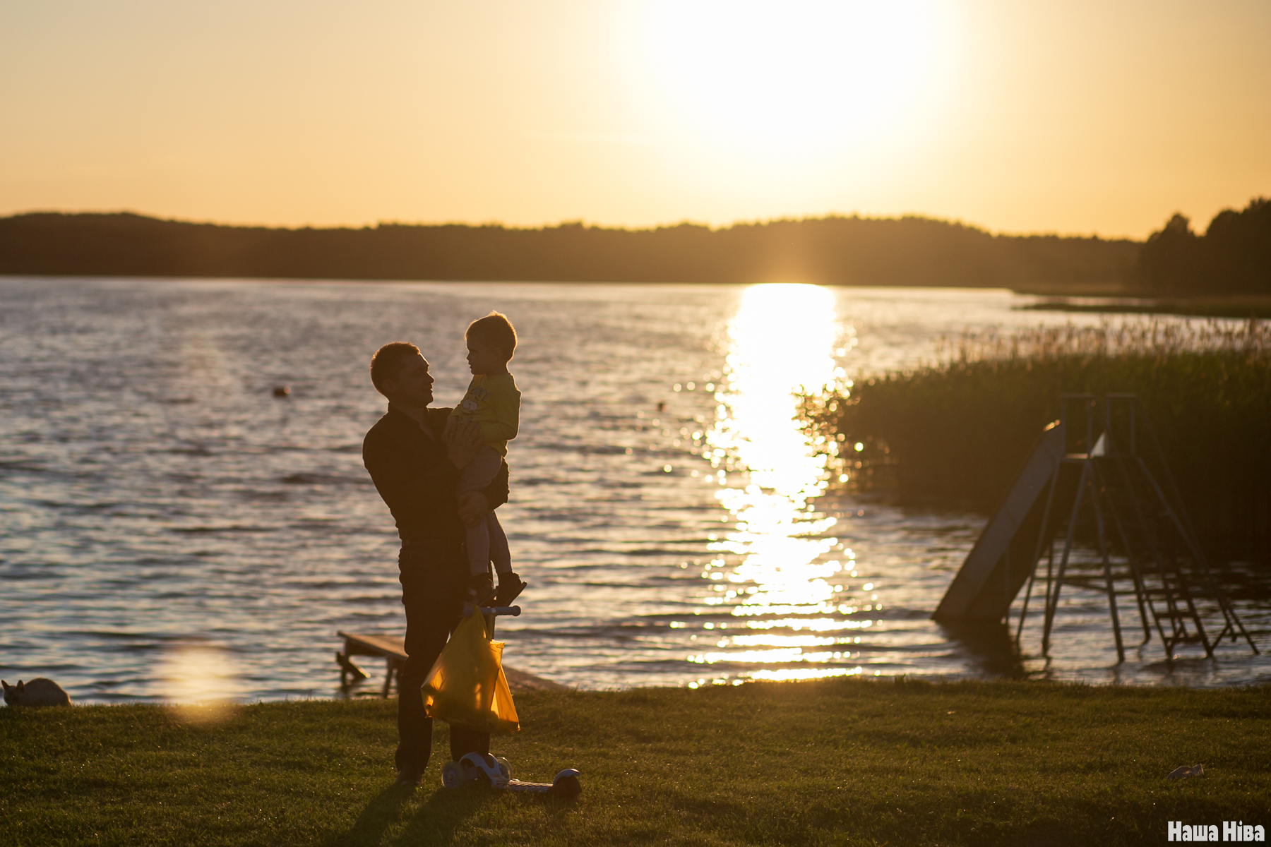
{"label": "dark long-sleeved shirt on the man holding the child", "polygon": [[[403,541],[461,541],[455,484],[459,469],[446,457],[441,433],[450,409],[428,409],[433,437],[411,415],[389,406],[362,441],[362,464],[397,521]],[[507,465],[482,494],[494,508],[507,503]]]}

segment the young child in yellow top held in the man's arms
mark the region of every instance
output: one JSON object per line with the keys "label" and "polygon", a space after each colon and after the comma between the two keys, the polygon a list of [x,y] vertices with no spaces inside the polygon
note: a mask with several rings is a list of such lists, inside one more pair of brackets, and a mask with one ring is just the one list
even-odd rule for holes
{"label": "young child in yellow top held in the man's arms", "polygon": [[[507,363],[516,350],[516,330],[506,316],[492,311],[474,320],[464,334],[468,342],[468,367],[473,381],[463,401],[450,413],[459,423],[475,420],[480,425],[482,447],[459,475],[459,494],[477,491],[498,474],[507,456],[507,442],[516,438],[521,414],[521,392],[507,372]],[[498,574],[498,592],[489,577],[493,560]],[[494,594],[497,606],[507,606],[525,590],[525,583],[512,571],[507,536],[494,512],[474,527],[468,527],[469,596],[483,603]]]}

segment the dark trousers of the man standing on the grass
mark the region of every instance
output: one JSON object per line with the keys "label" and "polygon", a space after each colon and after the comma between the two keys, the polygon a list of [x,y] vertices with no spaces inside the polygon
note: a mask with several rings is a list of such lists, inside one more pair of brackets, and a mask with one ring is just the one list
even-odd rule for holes
{"label": "dark trousers of the man standing on the grass", "polygon": [[[432,719],[423,712],[419,688],[459,626],[468,580],[468,559],[458,541],[402,545],[398,556],[405,606],[405,667],[398,678],[397,767],[423,773],[432,752]],[[450,728],[450,757],[488,753],[489,733]]]}

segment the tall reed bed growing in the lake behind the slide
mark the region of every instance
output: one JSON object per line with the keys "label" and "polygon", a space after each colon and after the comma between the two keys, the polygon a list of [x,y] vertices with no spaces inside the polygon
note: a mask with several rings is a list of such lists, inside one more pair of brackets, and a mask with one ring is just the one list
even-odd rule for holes
{"label": "tall reed bed growing in the lake behind the slide", "polygon": [[[834,480],[904,504],[989,512],[1061,394],[1132,392],[1202,542],[1271,564],[1271,326],[1106,321],[963,333],[913,371],[802,400]],[[859,446],[859,447],[858,447]]]}

